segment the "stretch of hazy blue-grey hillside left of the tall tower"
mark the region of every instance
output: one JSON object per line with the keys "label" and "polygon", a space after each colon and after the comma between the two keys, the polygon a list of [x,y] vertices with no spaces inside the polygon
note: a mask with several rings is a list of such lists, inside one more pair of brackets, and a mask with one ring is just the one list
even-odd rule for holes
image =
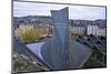
{"label": "stretch of hazy blue-grey hillside left of the tall tower", "polygon": [[50,17],[44,15],[28,15],[28,17],[20,17],[13,18],[14,23],[51,23],[52,20]]}

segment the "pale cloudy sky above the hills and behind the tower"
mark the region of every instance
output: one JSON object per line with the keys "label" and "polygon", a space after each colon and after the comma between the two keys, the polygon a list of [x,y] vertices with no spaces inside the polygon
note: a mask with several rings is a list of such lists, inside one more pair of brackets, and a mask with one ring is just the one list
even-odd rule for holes
{"label": "pale cloudy sky above the hills and behind the tower", "polygon": [[105,19],[104,7],[52,4],[37,2],[13,2],[13,17],[51,15],[50,10],[69,7],[69,19],[97,20]]}

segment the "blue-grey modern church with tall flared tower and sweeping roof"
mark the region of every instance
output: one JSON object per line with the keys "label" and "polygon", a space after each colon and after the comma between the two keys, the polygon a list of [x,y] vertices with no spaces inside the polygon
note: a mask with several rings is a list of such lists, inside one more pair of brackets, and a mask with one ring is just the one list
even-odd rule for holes
{"label": "blue-grey modern church with tall flared tower and sweeping roof", "polygon": [[88,61],[92,50],[71,41],[69,31],[69,8],[51,10],[53,38],[41,47],[43,60],[53,70],[80,68]]}

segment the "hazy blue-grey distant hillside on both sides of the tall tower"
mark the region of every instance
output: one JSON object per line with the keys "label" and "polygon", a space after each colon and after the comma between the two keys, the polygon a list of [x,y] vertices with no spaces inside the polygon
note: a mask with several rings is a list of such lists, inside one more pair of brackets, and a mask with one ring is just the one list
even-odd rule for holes
{"label": "hazy blue-grey distant hillside on both sides of the tall tower", "polygon": [[[28,15],[28,17],[20,17],[20,18],[13,18],[13,24],[19,23],[29,23],[29,24],[44,24],[44,23],[51,23],[52,19],[51,17],[46,15]],[[83,25],[87,27],[88,24],[92,25],[99,25],[100,28],[107,27],[107,20],[70,20],[71,25]]]}

